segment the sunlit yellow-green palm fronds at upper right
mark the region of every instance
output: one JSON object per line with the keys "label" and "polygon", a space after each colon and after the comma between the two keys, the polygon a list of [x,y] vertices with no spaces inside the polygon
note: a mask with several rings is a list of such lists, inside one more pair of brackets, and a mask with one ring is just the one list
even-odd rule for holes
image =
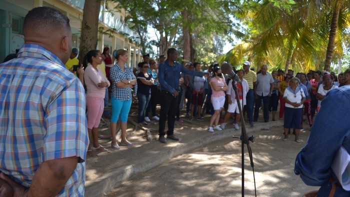
{"label": "sunlit yellow-green palm fronds at upper right", "polygon": [[[236,17],[244,24],[242,43],[220,59],[249,59],[253,66],[269,63],[273,68],[295,71],[323,70],[333,6],[340,5],[333,63],[348,43],[349,0],[244,0]],[[348,45],[348,44],[347,44]]]}

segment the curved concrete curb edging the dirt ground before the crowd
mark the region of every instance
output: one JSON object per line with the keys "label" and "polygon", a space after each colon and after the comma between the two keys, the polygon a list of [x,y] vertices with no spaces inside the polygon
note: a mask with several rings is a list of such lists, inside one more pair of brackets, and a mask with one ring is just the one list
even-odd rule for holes
{"label": "curved concrete curb edging the dirt ground before the crowd", "polygon": [[[283,125],[283,121],[271,121],[271,122],[255,122],[254,127],[250,127],[246,124],[247,135],[249,131],[257,131],[269,129],[270,127]],[[155,167],[162,162],[180,155],[182,153],[193,150],[197,147],[218,141],[227,137],[232,137],[232,135],[240,136],[241,130],[235,130],[234,128],[224,129],[222,131],[215,131],[214,133],[203,132],[203,135],[198,136],[190,141],[178,144],[172,147],[163,148],[158,154],[154,154],[151,157],[140,158],[130,165],[122,166],[116,168],[114,171],[109,172],[94,181],[89,181],[85,183],[85,196],[104,196],[104,193],[109,192],[113,188],[117,187],[122,183],[123,180],[130,178],[131,176],[144,172],[152,167]],[[159,143],[158,140],[152,141],[151,143]],[[159,144],[159,146],[162,144]]]}

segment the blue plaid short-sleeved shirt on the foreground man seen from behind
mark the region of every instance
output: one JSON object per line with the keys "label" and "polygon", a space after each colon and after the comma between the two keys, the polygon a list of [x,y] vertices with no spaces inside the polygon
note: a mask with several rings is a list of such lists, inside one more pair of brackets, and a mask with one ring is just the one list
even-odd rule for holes
{"label": "blue plaid short-sleeved shirt on the foreground man seen from behind", "polygon": [[87,145],[79,79],[50,51],[24,44],[0,64],[0,171],[29,187],[43,161],[78,156],[58,196],[83,196]]}

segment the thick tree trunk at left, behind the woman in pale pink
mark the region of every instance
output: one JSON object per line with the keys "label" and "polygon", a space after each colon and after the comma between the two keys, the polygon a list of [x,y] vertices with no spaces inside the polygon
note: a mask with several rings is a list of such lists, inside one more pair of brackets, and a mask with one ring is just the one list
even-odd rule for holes
{"label": "thick tree trunk at left, behind the woman in pale pink", "polygon": [[100,4],[101,0],[85,0],[78,57],[80,63],[88,51],[96,49]]}

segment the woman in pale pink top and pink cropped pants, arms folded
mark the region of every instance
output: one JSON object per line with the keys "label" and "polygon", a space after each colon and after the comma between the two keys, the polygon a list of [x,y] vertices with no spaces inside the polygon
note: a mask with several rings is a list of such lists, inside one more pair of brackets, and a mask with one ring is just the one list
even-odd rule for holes
{"label": "woman in pale pink top and pink cropped pants, arms folded", "polygon": [[[90,50],[84,56],[83,64],[86,66],[84,71],[84,81],[86,85],[86,110],[87,110],[87,131],[90,144],[87,149],[87,155],[97,156],[94,151],[109,152],[109,150],[98,144],[98,124],[101,119],[104,108],[105,88],[110,85],[108,79],[97,67],[102,62],[99,50]],[[91,139],[92,138],[92,139]],[[93,144],[91,145],[91,141]]]}

